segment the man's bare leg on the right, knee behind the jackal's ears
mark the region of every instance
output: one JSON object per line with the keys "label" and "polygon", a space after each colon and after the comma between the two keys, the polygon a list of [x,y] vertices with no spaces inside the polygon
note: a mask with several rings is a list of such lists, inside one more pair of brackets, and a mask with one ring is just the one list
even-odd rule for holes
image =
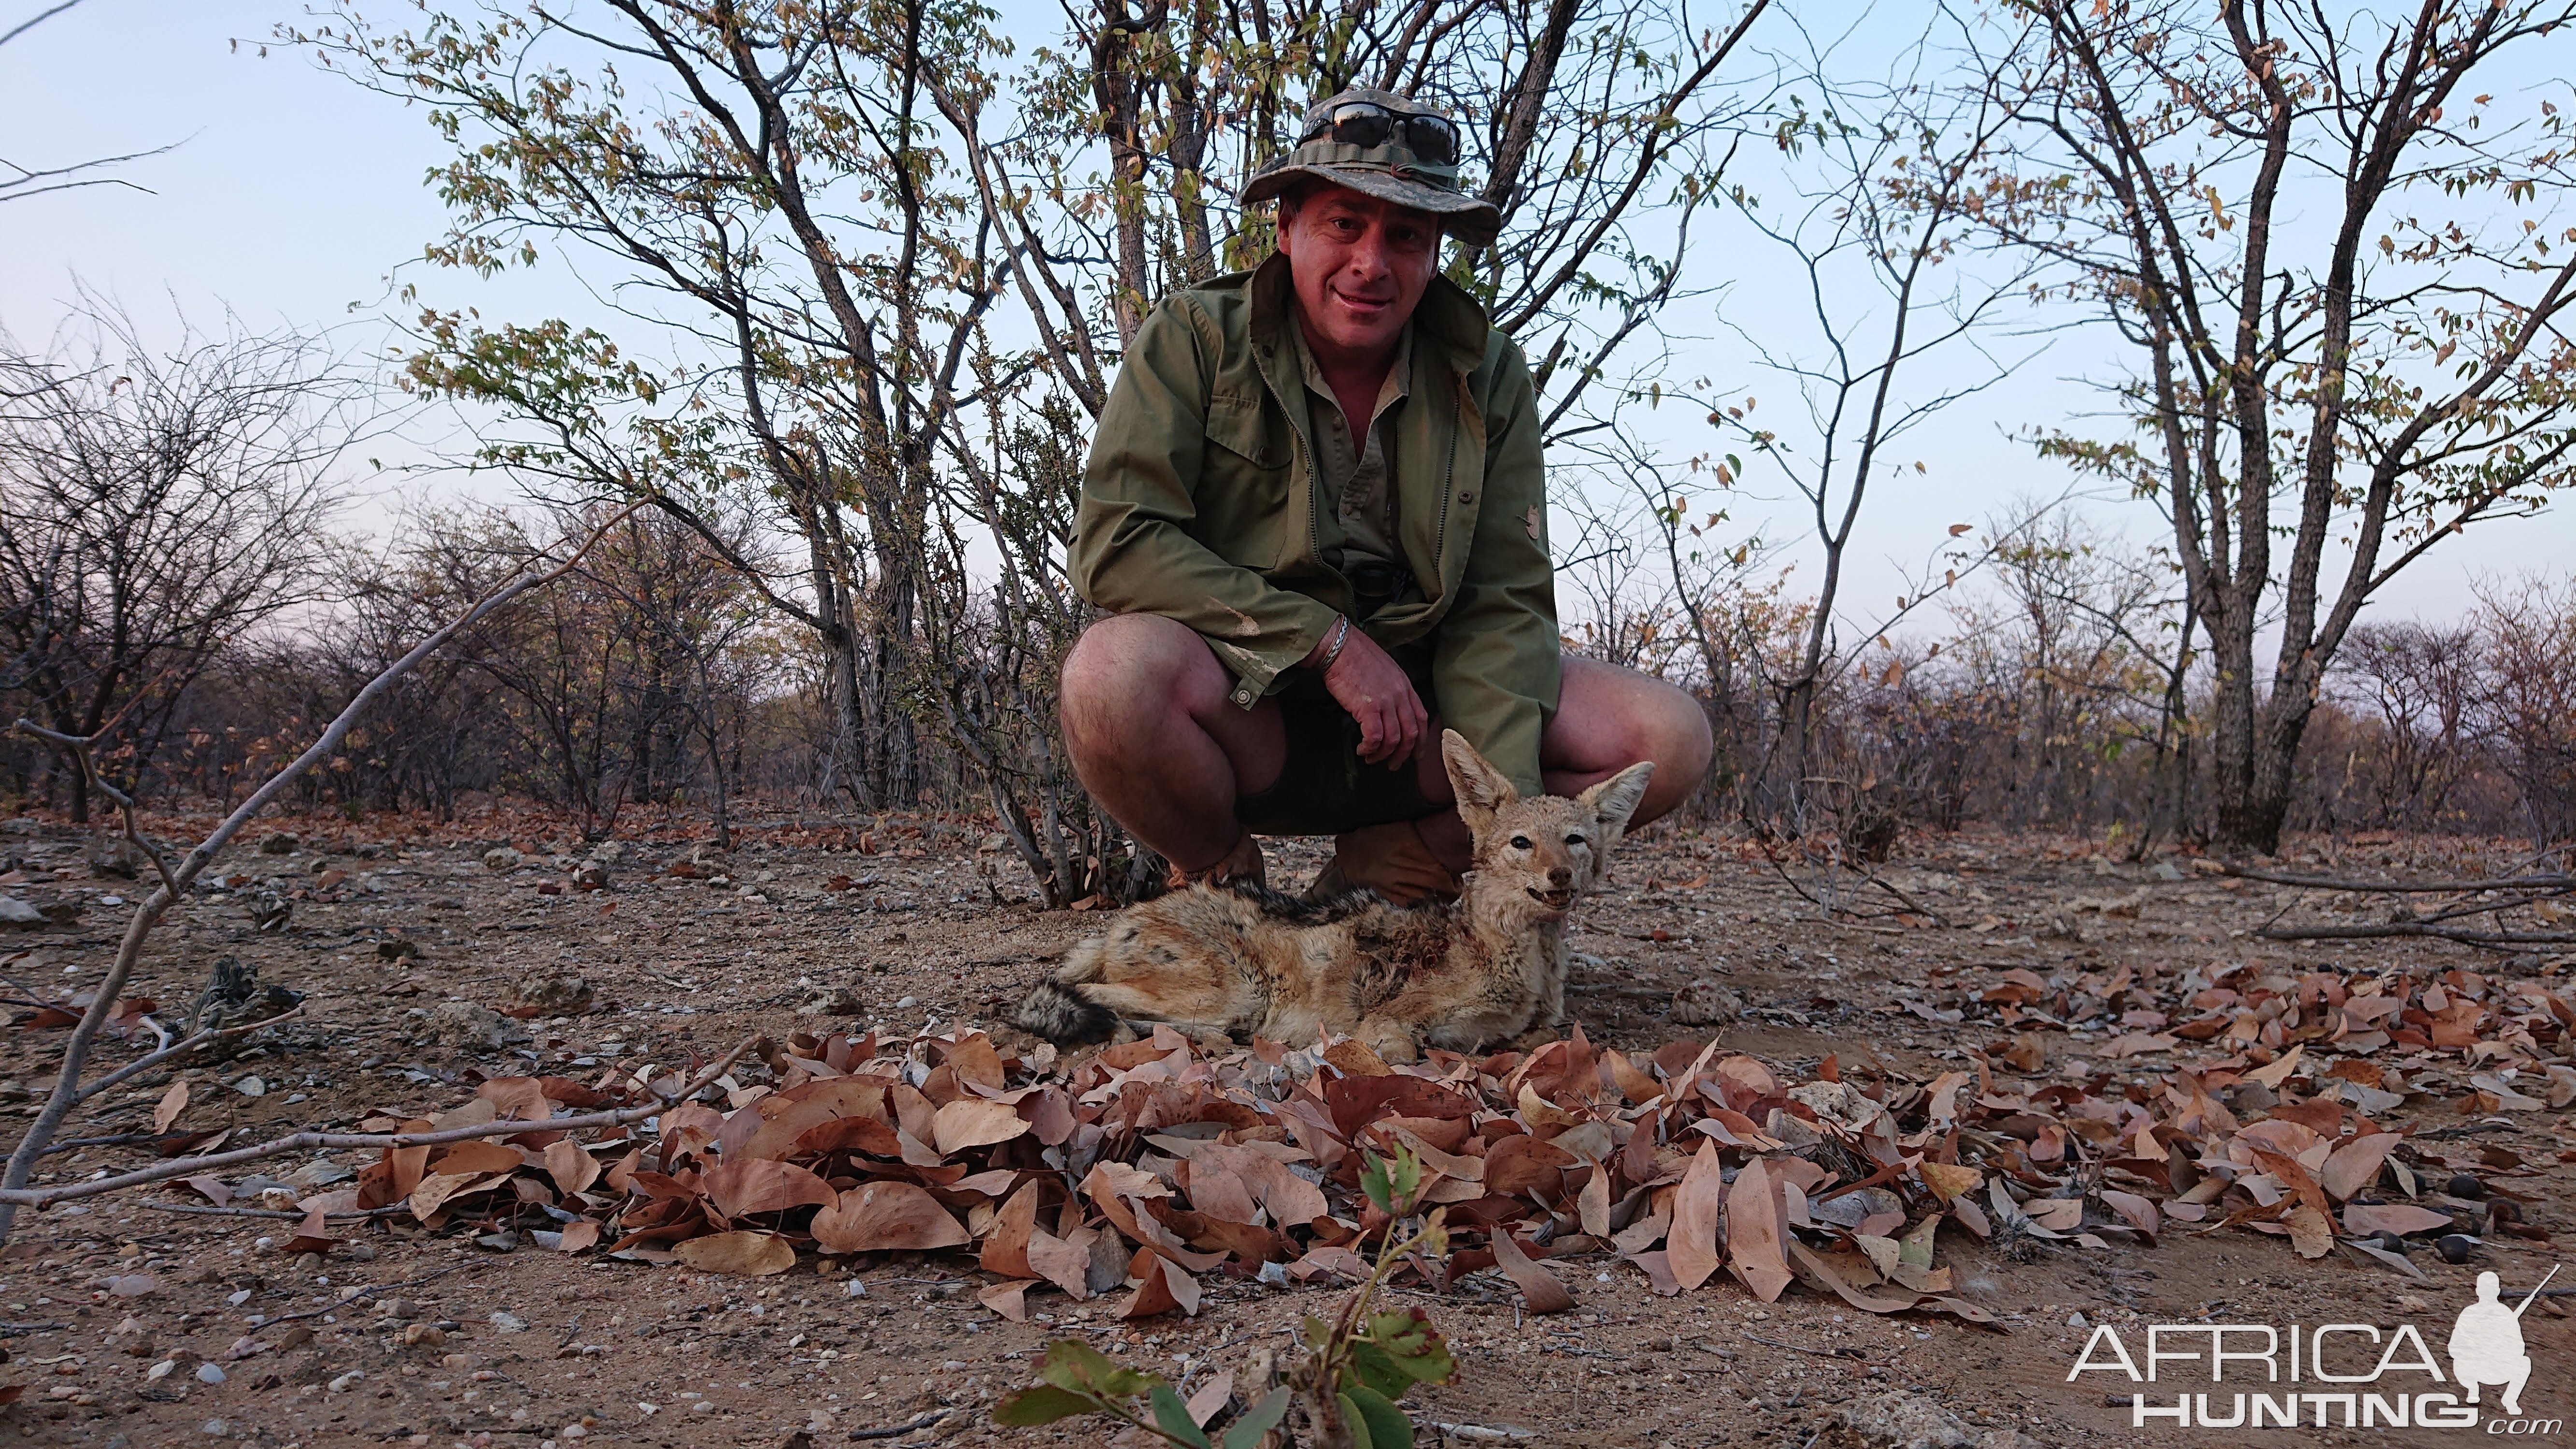
{"label": "man's bare leg on the right, knee behind the jackal's ears", "polygon": [[[1651,759],[1654,780],[1631,818],[1636,829],[1669,813],[1708,780],[1713,749],[1708,713],[1687,692],[1654,674],[1569,654],[1556,718],[1538,739],[1538,777],[1551,795],[1582,795],[1620,770]],[[1455,803],[1437,749],[1419,752],[1417,767],[1425,800]],[[1414,834],[1448,870],[1468,867],[1471,842],[1458,811],[1414,821]]]}

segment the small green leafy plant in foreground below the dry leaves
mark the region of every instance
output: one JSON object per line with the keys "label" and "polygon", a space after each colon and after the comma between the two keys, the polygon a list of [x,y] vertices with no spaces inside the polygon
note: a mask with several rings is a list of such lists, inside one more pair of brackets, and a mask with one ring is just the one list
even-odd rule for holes
{"label": "small green leafy plant in foreground below the dry leaves", "polygon": [[1406,1233],[1404,1225],[1419,1207],[1422,1161],[1406,1148],[1396,1148],[1394,1158],[1363,1158],[1360,1192],[1386,1217],[1368,1279],[1329,1323],[1306,1315],[1298,1333],[1306,1354],[1288,1369],[1288,1382],[1262,1395],[1224,1434],[1211,1439],[1198,1428],[1162,1377],[1121,1369],[1090,1343],[1069,1338],[1046,1346],[1041,1382],[1005,1398],[994,1408],[994,1423],[1025,1428],[1105,1413],[1188,1449],[1255,1449],[1283,1426],[1291,1436],[1303,1431],[1303,1441],[1316,1449],[1412,1449],[1414,1426],[1396,1400],[1414,1385],[1448,1382],[1458,1361],[1419,1307],[1370,1313],[1370,1300],[1409,1253],[1448,1253],[1445,1210],[1435,1207]]}

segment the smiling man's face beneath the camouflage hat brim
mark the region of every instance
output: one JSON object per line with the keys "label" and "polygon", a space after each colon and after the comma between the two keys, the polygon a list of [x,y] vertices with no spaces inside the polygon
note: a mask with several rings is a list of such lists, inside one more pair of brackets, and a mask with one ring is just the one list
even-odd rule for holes
{"label": "smiling man's face beneath the camouflage hat brim", "polygon": [[[1396,345],[1440,265],[1440,221],[1342,185],[1316,185],[1280,224],[1306,342],[1363,360]],[[1321,358],[1319,358],[1321,360]]]}

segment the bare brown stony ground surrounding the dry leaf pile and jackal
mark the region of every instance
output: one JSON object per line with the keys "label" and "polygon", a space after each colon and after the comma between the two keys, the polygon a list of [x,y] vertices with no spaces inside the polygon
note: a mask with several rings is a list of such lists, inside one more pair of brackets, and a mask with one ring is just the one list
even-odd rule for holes
{"label": "bare brown stony ground surrounding the dry leaf pile and jackal", "polygon": [[[175,836],[185,821],[165,826]],[[1036,909],[1015,862],[971,824],[757,818],[729,854],[693,824],[605,849],[502,813],[453,826],[278,826],[291,839],[245,844],[211,872],[216,888],[155,939],[129,993],[152,999],[160,1017],[185,1011],[229,957],[234,978],[255,968],[258,991],[301,993],[301,1011],[232,1060],[137,1078],[82,1109],[67,1135],[147,1132],[173,1081],[188,1084],[178,1130],[229,1130],[227,1143],[242,1145],[294,1127],[435,1114],[484,1076],[688,1068],[750,1032],[989,1024],[1097,927],[1095,914]],[[0,1112],[26,1120],[64,1040],[36,1004],[100,978],[139,885],[118,872],[129,862],[70,826],[18,818],[0,831],[10,865],[0,888],[39,916],[8,927],[15,937],[0,963],[21,1019],[0,1040],[10,1078]],[[2416,842],[2298,849],[2282,865],[2411,872],[2509,860],[2504,844]],[[1301,883],[1319,865],[1303,842],[1273,847],[1275,883]],[[1824,906],[1857,916],[1829,919]],[[2251,934],[2285,909],[2324,906],[2215,880],[2184,860],[2107,862],[2081,842],[1919,839],[1873,885],[1775,870],[1728,836],[1656,829],[1625,847],[1615,883],[1579,911],[1577,950],[1589,963],[1569,1001],[1595,1042],[1631,1053],[1716,1029],[1783,1076],[1808,1078],[1837,1055],[1847,1071],[1868,1063],[1914,1081],[1984,1053],[2007,1084],[2040,1089],[2123,1073],[2148,1084],[2218,1042],[2138,1053],[2136,1035],[2161,1019],[1999,1024],[1986,993],[2009,970],[2432,965],[2563,988],[2576,963]],[[103,1058],[113,1066],[144,1045],[149,1027],[134,1022]],[[2561,1158],[2576,1156],[2568,1117],[2537,1102],[2499,1107],[2470,1076],[2458,1053],[2411,1060],[2403,1104],[2383,1104],[2383,1125],[2476,1153],[2470,1186],[2514,1194],[2524,1230],[2576,1225],[2561,1207],[2571,1171]],[[407,1217],[374,1220],[314,1256],[283,1251],[291,1212],[245,1215],[345,1181],[374,1158],[276,1158],[232,1174],[222,1210],[173,1184],[21,1217],[0,1251],[0,1385],[23,1398],[0,1413],[0,1436],[98,1446],[1097,1444],[1105,1434],[1082,1423],[994,1428],[989,1400],[1030,1382],[1043,1343],[1066,1333],[1203,1382],[1247,1349],[1285,1346],[1303,1313],[1337,1300],[1329,1287],[1211,1277],[1195,1318],[1118,1323],[1103,1305],[1033,1297],[1048,1307],[1010,1323],[976,1302],[987,1279],[963,1256],[896,1253],[855,1274],[809,1261],[734,1279],[549,1251],[533,1235],[425,1233]],[[149,1148],[90,1145],[52,1158],[44,1179],[144,1161]],[[1551,1318],[1489,1287],[1399,1292],[1450,1333],[1463,1369],[1406,1403],[1427,1444],[2205,1444],[2228,1434],[2133,1428],[2125,1380],[2066,1382],[2094,1325],[2128,1331],[2143,1351],[2148,1323],[2411,1320],[2439,1351],[2478,1269],[2512,1287],[2555,1264],[2543,1238],[2488,1235],[2465,1264],[2419,1241],[2409,1259],[2419,1279],[2349,1251],[2300,1259],[2285,1238],[2213,1225],[2164,1223],[2154,1246],[2022,1241],[2004,1251],[1945,1235],[1958,1295],[1999,1331],[1860,1313],[1806,1289],[1762,1305],[1726,1274],[1656,1297],[1607,1253],[1551,1261],[1577,1297]],[[2537,1364],[2524,1413],[2576,1416],[2576,1333],[2558,1300],[2522,1323]],[[265,1349],[234,1354],[242,1338]],[[2300,1436],[2339,1444],[2388,1431],[2329,1418]]]}

